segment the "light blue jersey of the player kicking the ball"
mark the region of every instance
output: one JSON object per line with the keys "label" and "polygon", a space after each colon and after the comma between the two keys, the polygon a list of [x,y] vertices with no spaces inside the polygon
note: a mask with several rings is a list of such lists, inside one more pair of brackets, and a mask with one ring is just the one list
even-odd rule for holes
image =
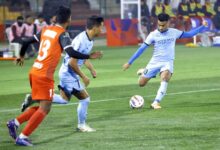
{"label": "light blue jersey of the player kicking the ball", "polygon": [[145,43],[154,45],[153,56],[150,62],[167,62],[175,58],[176,39],[180,38],[183,31],[168,28],[167,31],[161,33],[158,30],[151,32]]}

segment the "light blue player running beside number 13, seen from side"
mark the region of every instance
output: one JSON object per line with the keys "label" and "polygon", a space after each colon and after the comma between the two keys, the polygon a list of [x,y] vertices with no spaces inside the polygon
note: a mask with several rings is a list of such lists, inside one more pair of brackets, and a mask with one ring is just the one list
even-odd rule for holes
{"label": "light blue player running beside number 13, seen from side", "polygon": [[[74,50],[82,54],[90,54],[93,48],[93,39],[100,35],[104,26],[104,19],[99,16],[92,16],[87,19],[86,30],[78,34],[72,41]],[[78,127],[77,130],[81,132],[93,132],[95,129],[86,124],[87,109],[90,102],[90,96],[86,91],[90,83],[90,79],[80,70],[84,65],[90,70],[93,78],[96,78],[96,71],[89,60],[75,59],[68,54],[65,55],[63,63],[59,70],[60,85],[59,94],[54,94],[53,102],[59,104],[66,104],[69,102],[72,95],[79,99],[77,108]],[[80,78],[83,83],[80,82]],[[22,111],[24,111],[33,101],[28,95],[22,104]]]}

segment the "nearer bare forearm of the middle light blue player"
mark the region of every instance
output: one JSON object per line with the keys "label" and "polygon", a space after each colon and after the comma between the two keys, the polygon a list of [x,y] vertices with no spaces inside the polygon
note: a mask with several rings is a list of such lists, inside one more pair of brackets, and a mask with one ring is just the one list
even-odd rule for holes
{"label": "nearer bare forearm of the middle light blue player", "polygon": [[78,75],[82,78],[82,80],[83,80],[85,86],[88,86],[90,80],[89,80],[89,78],[80,70],[80,68],[79,68],[77,62],[78,62],[78,59],[70,58],[70,60],[69,60],[69,65],[70,65],[70,67],[73,69],[73,71],[74,71],[76,74],[78,74]]}

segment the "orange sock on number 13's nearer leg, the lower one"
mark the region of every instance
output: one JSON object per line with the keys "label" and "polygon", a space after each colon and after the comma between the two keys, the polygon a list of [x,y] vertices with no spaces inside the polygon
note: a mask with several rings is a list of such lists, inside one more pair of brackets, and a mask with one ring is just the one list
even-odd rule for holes
{"label": "orange sock on number 13's nearer leg, the lower one", "polygon": [[46,117],[46,113],[39,108],[29,119],[27,125],[23,129],[21,133],[23,133],[26,136],[29,136],[37,127],[38,125],[44,120]]}

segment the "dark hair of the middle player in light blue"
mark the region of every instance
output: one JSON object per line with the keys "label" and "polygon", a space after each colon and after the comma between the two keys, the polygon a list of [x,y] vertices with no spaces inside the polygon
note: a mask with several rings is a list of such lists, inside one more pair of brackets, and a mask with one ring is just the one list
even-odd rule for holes
{"label": "dark hair of the middle player in light blue", "polygon": [[87,19],[86,28],[92,29],[95,26],[100,26],[104,19],[100,16],[91,16]]}

